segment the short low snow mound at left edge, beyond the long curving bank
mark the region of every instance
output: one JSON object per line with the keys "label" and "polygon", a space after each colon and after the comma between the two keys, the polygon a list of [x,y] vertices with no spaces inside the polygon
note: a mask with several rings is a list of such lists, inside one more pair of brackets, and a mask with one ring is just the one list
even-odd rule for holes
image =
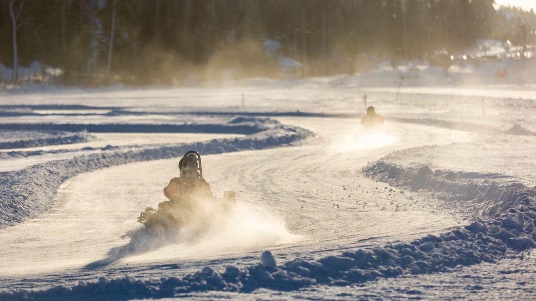
{"label": "short low snow mound at left edge, beyond the long curving bank", "polygon": [[[13,137],[21,136],[26,138],[12,141]],[[86,130],[75,133],[57,131],[12,132],[0,130],[0,149],[20,149],[46,145],[82,143],[91,141],[94,138]]]}

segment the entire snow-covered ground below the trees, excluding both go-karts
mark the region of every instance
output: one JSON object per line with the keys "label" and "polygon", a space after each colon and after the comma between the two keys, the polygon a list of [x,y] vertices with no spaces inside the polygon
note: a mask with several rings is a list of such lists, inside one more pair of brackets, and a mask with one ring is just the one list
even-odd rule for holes
{"label": "entire snow-covered ground below the trees, excluding both go-karts", "polygon": [[[0,142],[42,141],[0,153],[0,299],[533,299],[536,90],[351,81],[1,95]],[[46,143],[78,125],[87,141]],[[189,148],[237,215],[147,235]]]}

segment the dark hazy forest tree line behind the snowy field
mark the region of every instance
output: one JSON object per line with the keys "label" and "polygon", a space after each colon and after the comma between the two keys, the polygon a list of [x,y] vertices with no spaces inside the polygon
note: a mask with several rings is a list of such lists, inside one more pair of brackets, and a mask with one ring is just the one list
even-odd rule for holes
{"label": "dark hazy forest tree line behind the snowy field", "polygon": [[396,63],[442,49],[460,52],[480,38],[530,43],[534,12],[496,11],[493,4],[0,0],[0,63],[12,68],[40,61],[62,68],[66,84],[152,84],[217,78],[224,71],[274,74],[277,64],[262,45],[266,39],[278,41],[279,55],[300,61],[307,75],[352,73],[374,59]]}

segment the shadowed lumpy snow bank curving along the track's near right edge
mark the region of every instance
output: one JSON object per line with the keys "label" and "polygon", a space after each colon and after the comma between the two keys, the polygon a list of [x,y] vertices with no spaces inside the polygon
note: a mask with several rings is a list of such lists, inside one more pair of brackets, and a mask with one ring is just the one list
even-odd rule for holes
{"label": "shadowed lumpy snow bank curving along the track's near right edge", "polygon": [[[314,284],[349,285],[379,277],[445,272],[458,265],[493,263],[510,252],[535,248],[536,191],[523,184],[497,186],[486,182],[490,175],[403,168],[378,161],[363,169],[368,176],[411,189],[441,192],[443,202],[464,203],[474,220],[439,235],[411,242],[389,244],[370,250],[347,251],[319,260],[296,258],[277,264],[265,251],[257,265],[228,266],[225,271],[204,267],[179,277],[136,280],[101,277],[74,287],[60,285],[42,291],[4,291],[6,300],[21,298],[164,298],[195,291],[251,292],[258,288],[295,290]],[[476,183],[474,180],[482,180]]]}

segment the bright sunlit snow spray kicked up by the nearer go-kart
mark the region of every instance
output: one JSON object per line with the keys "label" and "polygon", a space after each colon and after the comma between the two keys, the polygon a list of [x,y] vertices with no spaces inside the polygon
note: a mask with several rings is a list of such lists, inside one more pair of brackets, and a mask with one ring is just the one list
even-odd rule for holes
{"label": "bright sunlit snow spray kicked up by the nearer go-kart", "polygon": [[[206,218],[196,219],[191,225],[166,235],[136,233],[129,244],[111,251],[109,258],[93,265],[108,264],[111,259],[124,259],[126,263],[147,263],[218,258],[296,240],[295,236],[288,233],[282,218],[263,208],[243,204],[242,200],[236,211],[231,213],[214,212],[214,206],[205,206],[200,210],[204,211]],[[140,232],[146,233],[144,230]],[[164,236],[165,239],[162,239]],[[127,256],[131,257],[125,258]]]}

